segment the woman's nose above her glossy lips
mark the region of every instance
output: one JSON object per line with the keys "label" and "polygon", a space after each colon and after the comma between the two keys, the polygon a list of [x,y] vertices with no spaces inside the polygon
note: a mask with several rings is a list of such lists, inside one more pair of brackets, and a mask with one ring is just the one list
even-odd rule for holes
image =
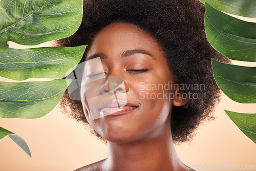
{"label": "woman's nose above her glossy lips", "polygon": [[106,77],[105,83],[100,87],[100,93],[127,93],[130,90],[129,84],[118,76]]}

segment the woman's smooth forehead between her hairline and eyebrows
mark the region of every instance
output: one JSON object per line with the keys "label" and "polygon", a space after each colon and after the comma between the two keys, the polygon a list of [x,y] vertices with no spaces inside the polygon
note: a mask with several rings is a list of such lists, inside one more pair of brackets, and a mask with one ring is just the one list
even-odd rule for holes
{"label": "woman's smooth forehead between her hairline and eyebrows", "polygon": [[93,53],[120,54],[125,50],[141,49],[151,54],[163,54],[156,40],[139,27],[127,23],[114,23],[101,29],[93,38],[86,56]]}

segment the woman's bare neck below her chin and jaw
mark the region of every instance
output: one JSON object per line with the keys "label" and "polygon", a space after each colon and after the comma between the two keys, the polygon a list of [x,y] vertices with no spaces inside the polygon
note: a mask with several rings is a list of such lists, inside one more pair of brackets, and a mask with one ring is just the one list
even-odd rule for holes
{"label": "woman's bare neck below her chin and jaw", "polygon": [[186,170],[178,158],[170,127],[156,136],[129,143],[109,144],[109,157],[103,167],[106,170]]}

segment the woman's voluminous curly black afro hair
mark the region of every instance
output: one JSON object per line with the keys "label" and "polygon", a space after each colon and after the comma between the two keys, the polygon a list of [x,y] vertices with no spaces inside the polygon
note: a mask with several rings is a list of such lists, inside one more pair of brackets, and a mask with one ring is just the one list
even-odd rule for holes
{"label": "woman's voluminous curly black afro hair", "polygon": [[[157,41],[179,84],[204,85],[204,89],[189,90],[198,94],[197,99],[188,99],[185,105],[172,109],[174,142],[191,140],[201,122],[214,119],[212,112],[220,100],[211,58],[229,62],[207,41],[204,5],[197,0],[86,0],[79,29],[72,36],[58,40],[58,46],[90,45],[102,28],[118,22],[136,25]],[[70,99],[67,91],[61,105],[64,109],[70,107],[73,118],[87,123],[81,101]]]}

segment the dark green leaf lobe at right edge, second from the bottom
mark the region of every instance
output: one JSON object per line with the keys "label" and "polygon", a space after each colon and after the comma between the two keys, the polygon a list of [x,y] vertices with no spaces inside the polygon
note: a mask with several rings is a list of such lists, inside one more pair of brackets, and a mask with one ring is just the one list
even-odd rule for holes
{"label": "dark green leaf lobe at right edge, second from the bottom", "polygon": [[211,59],[219,88],[239,103],[256,103],[256,67],[230,65]]}

